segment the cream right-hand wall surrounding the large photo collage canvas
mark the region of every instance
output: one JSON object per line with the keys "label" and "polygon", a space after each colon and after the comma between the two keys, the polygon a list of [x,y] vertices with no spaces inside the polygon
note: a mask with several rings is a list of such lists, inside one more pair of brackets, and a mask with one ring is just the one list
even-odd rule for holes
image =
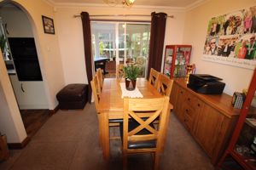
{"label": "cream right-hand wall surrounding the large photo collage canvas", "polygon": [[224,79],[224,92],[232,95],[234,91],[247,88],[253,70],[247,70],[230,65],[221,65],[201,59],[205,38],[207,36],[208,21],[221,14],[228,14],[237,9],[256,5],[255,0],[210,0],[200,7],[193,8],[186,13],[183,43],[192,44],[191,63],[196,65],[196,73],[207,73]]}

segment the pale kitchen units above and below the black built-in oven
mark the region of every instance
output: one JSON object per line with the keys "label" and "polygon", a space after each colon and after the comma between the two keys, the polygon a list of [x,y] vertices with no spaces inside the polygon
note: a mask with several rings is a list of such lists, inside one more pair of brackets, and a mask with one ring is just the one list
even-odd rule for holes
{"label": "pale kitchen units above and below the black built-in oven", "polygon": [[[7,24],[8,37],[33,37],[30,21],[20,8],[3,7],[0,16],[3,24]],[[20,82],[17,75],[11,75],[10,78],[20,109],[48,109],[43,81]],[[21,91],[21,84],[26,88],[25,93]]]}

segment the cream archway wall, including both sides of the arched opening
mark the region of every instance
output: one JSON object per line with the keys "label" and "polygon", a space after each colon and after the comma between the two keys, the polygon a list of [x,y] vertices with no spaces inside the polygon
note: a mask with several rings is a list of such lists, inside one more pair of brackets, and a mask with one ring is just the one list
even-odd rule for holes
{"label": "cream archway wall, including both sides of the arched opening", "polygon": [[[42,15],[55,20],[54,8],[44,0],[15,0],[11,1],[27,14],[32,23],[32,32],[35,37],[38,59],[44,79],[44,87],[48,100],[49,109],[55,109],[57,101],[55,94],[65,85],[61,65],[61,55],[57,34],[44,34]],[[55,28],[55,32],[57,29]],[[15,94],[11,88],[8,73],[0,54],[0,131],[7,134],[9,143],[21,143],[26,139],[20,112],[15,100]]]}

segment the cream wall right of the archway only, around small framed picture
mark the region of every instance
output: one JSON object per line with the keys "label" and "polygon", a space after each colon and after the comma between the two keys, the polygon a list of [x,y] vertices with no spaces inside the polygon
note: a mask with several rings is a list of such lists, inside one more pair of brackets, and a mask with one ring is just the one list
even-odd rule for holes
{"label": "cream wall right of the archway only, around small framed picture", "polygon": [[55,8],[44,0],[37,0],[37,2],[33,0],[15,0],[15,2],[25,10],[28,19],[32,23],[49,110],[53,110],[58,104],[55,95],[64,87],[65,81],[61,65],[58,30],[55,28],[55,35],[45,34],[42,26],[42,15],[55,20]]}

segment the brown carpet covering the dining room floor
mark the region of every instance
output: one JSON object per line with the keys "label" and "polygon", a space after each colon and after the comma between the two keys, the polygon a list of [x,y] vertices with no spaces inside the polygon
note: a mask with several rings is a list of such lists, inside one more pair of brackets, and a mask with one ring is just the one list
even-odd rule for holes
{"label": "brown carpet covering the dining room floor", "polygon": [[[102,159],[94,105],[83,111],[58,111],[51,116],[23,150],[10,150],[1,170],[102,170],[122,169],[121,142],[111,140],[111,160]],[[152,156],[129,156],[129,169],[152,169]],[[210,159],[195,140],[171,116],[162,170],[212,170]]]}

